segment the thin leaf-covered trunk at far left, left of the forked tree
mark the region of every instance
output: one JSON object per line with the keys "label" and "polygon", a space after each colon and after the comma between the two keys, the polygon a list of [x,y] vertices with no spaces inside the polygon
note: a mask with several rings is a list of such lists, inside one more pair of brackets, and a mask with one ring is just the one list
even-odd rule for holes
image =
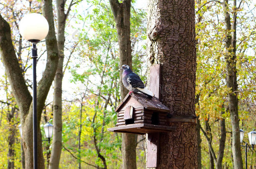
{"label": "thin leaf-covered trunk at far left, left of the forked tree", "polygon": [[8,135],[8,169],[14,169],[14,156],[15,156],[15,150],[14,150],[14,143],[15,143],[15,135],[16,135],[16,127],[13,121],[15,113],[15,108],[11,108],[11,111],[9,110],[7,114],[8,119],[8,128],[9,128],[9,135]]}

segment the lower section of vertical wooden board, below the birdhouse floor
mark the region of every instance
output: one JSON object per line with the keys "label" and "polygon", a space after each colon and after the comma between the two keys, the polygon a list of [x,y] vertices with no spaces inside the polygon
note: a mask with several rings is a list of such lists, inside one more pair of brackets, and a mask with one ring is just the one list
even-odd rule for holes
{"label": "lower section of vertical wooden board, below the birdhouse floor", "polygon": [[149,133],[147,140],[147,160],[146,167],[157,167],[159,153],[159,133]]}

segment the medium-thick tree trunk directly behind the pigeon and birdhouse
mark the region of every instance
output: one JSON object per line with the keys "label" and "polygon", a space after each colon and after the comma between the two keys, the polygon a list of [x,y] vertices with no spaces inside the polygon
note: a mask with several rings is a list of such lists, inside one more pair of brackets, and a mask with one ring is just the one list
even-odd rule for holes
{"label": "medium-thick tree trunk directly behind the pigeon and birdhouse", "polygon": [[[120,51],[119,65],[122,66],[123,64],[126,64],[132,68],[130,37],[131,0],[123,0],[123,3],[119,3],[118,0],[109,1],[118,32],[118,45]],[[122,72],[120,71],[121,100],[125,98],[127,93],[128,90],[123,86]],[[123,169],[136,169],[136,145],[137,136],[135,134],[122,134]]]}

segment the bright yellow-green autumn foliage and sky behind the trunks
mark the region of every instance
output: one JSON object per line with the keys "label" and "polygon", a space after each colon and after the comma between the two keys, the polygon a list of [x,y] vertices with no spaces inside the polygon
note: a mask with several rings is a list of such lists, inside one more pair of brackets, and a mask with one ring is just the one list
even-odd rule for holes
{"label": "bright yellow-green autumn foliage and sky behind the trunks", "polygon": [[[67,1],[66,8],[68,8]],[[73,1],[71,1],[73,2]],[[133,71],[147,83],[146,68],[146,0],[132,1],[131,47]],[[55,1],[53,14],[57,22]],[[238,71],[238,98],[240,129],[246,134],[256,128],[256,3],[253,0],[238,1],[227,10],[237,13],[236,51]],[[227,109],[225,41],[227,34],[223,6],[217,0],[196,0],[196,115],[199,125],[199,149],[202,168],[214,167],[211,152],[219,151],[221,119],[225,119],[225,149],[223,168],[233,168],[230,114]],[[42,13],[42,2],[31,0],[0,0],[0,14],[11,28],[13,45],[29,91],[32,92],[31,43],[18,32],[20,19],[30,12]],[[232,18],[231,18],[232,20]],[[232,32],[232,30],[231,30]],[[42,77],[46,64],[46,47],[37,45],[37,78]],[[116,169],[122,166],[121,135],[107,132],[115,126],[115,108],[120,103],[119,50],[115,21],[108,0],[78,0],[66,20],[63,63],[63,131],[60,168],[84,169],[104,167]],[[22,168],[19,108],[0,64],[0,168]],[[53,118],[53,86],[47,96],[41,128]],[[42,129],[42,132],[43,129]],[[44,133],[42,133],[44,138]],[[137,138],[137,168],[146,167],[145,136]],[[212,150],[211,150],[212,149]],[[11,150],[11,151],[10,151]],[[50,161],[52,146],[43,142],[45,166]],[[241,147],[243,160],[244,148]],[[103,158],[99,158],[99,154]],[[215,157],[216,158],[216,157]],[[248,151],[248,166],[256,168],[255,150]],[[243,162],[245,164],[245,162]]]}

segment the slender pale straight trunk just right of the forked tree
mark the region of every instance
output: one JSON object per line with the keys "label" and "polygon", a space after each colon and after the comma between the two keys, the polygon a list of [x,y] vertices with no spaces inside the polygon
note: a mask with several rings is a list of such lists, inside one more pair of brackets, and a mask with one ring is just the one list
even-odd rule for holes
{"label": "slender pale straight trunk just right of the forked tree", "polygon": [[53,135],[52,135],[52,154],[50,157],[49,169],[58,169],[60,154],[62,149],[62,79],[63,79],[63,60],[65,42],[65,23],[66,15],[64,11],[64,0],[57,0],[57,45],[58,45],[58,65],[54,78],[53,93]]}

